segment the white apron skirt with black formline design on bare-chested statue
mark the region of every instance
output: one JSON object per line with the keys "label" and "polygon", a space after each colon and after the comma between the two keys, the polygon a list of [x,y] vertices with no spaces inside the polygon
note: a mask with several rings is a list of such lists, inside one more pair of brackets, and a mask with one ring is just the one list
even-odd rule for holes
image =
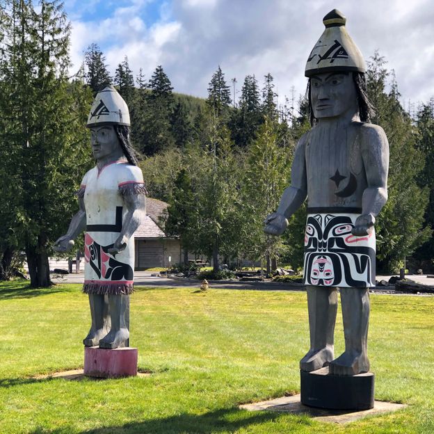
{"label": "white apron skirt with black formline design on bare-chested statue", "polygon": [[349,216],[308,216],[305,234],[305,284],[370,287],[375,282],[375,249],[360,246],[358,241],[367,241],[369,236],[353,236],[353,227]]}

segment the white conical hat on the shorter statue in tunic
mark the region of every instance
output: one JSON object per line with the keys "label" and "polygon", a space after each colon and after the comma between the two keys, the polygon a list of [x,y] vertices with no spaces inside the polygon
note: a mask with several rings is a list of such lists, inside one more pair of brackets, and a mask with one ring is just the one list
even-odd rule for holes
{"label": "white conical hat on the shorter statue in tunic", "polygon": [[86,127],[101,127],[102,125],[130,126],[127,103],[113,86],[106,86],[95,97]]}

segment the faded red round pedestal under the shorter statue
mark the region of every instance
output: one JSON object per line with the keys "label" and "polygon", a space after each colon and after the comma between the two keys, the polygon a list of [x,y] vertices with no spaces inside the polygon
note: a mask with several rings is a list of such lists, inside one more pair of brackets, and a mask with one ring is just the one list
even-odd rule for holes
{"label": "faded red round pedestal under the shorter statue", "polygon": [[84,375],[118,378],[137,375],[137,348],[84,347]]}

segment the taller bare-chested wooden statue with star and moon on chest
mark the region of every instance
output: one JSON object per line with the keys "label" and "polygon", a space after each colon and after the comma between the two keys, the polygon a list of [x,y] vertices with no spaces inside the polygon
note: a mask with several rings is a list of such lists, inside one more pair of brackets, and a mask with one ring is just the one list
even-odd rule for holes
{"label": "taller bare-chested wooden statue with star and moon on chest", "polygon": [[[278,210],[265,231],[280,235],[307,197],[304,280],[310,350],[302,371],[329,366],[331,374],[369,371],[369,287],[375,285],[376,216],[387,201],[389,145],[369,123],[362,54],[346,18],[332,10],[307,59],[312,129],[300,138]],[[337,288],[341,293],[345,351],[334,355]]]}

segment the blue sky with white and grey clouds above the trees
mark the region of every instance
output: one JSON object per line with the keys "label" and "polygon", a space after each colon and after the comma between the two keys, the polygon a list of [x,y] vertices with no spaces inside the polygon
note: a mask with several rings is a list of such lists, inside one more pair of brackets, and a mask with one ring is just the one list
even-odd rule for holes
{"label": "blue sky with white and grey clouds above the trees", "polygon": [[147,79],[163,65],[175,91],[207,95],[218,65],[227,78],[270,72],[280,95],[304,93],[304,67],[333,8],[364,57],[378,49],[394,69],[402,102],[434,95],[434,6],[430,0],[65,0],[72,22],[72,70],[92,42],[109,70],[128,56],[134,74]]}

